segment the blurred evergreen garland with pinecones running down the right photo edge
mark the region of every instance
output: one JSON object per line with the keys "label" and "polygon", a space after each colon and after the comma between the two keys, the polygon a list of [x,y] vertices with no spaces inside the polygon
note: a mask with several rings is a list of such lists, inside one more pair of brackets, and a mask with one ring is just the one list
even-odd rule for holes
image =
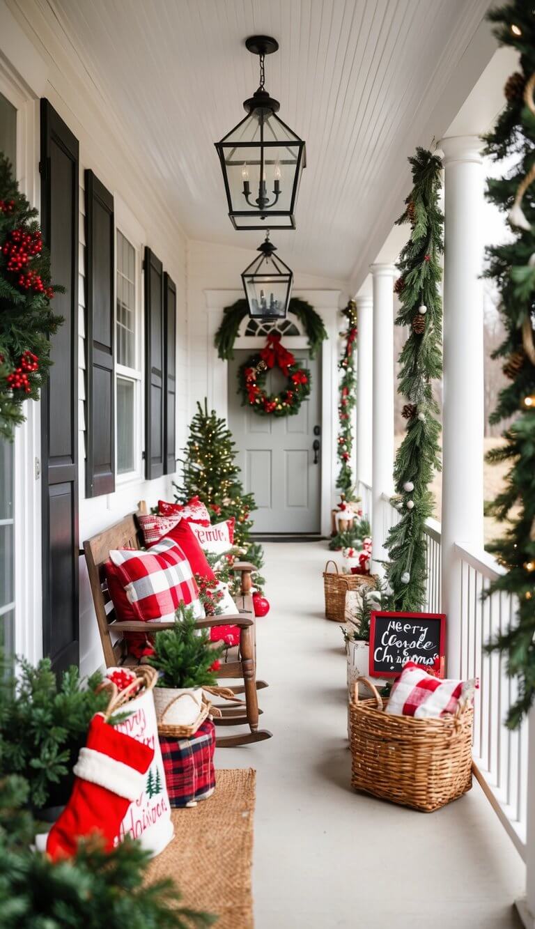
{"label": "blurred evergreen garland with pinecones running down the right photo edge", "polygon": [[508,212],[515,240],[487,248],[486,276],[500,290],[500,312],[505,339],[496,356],[506,358],[503,372],[510,378],[491,423],[515,416],[503,433],[506,444],[489,452],[489,462],[508,461],[511,469],[505,488],[489,506],[489,512],[506,520],[502,538],[489,550],[507,569],[490,586],[489,593],[516,595],[515,621],[497,636],[489,650],[502,652],[507,670],[518,681],[518,699],[511,707],[507,725],[519,726],[535,698],[535,17],[533,5],[515,0],[489,14],[496,23],[501,45],[520,54],[520,71],[508,79],[507,104],[486,138],[486,154],[495,160],[514,155],[516,166],[504,177],[489,179],[487,196]]}

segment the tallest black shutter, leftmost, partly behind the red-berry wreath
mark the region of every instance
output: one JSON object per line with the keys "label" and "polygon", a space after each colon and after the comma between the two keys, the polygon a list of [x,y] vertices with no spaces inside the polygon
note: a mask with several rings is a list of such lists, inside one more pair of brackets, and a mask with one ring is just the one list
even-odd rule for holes
{"label": "tallest black shutter, leftmost, partly behind the red-berry wreath", "polygon": [[41,100],[41,212],[52,277],[54,362],[41,395],[44,652],[57,672],[79,660],[78,609],[78,140]]}

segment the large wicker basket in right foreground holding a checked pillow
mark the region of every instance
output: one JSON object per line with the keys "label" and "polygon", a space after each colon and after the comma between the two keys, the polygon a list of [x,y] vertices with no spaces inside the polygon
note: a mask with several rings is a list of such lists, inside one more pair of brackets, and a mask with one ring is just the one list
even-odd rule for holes
{"label": "large wicker basket in right foreground holding a checked pillow", "polygon": [[[370,687],[372,700],[359,700],[359,682]],[[431,813],[471,789],[471,706],[440,719],[390,716],[376,687],[359,677],[349,716],[355,790]]]}

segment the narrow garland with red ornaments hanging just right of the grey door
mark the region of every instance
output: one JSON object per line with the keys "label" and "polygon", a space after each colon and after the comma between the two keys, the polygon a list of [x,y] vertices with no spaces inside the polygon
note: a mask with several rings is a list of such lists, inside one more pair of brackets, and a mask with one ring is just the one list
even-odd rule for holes
{"label": "narrow garland with red ornaments hanging just right of the grey door", "polygon": [[337,489],[349,500],[353,490],[353,468],[351,467],[351,454],[353,452],[353,412],[357,403],[357,375],[355,372],[355,342],[357,339],[357,305],[349,300],[346,309],[342,310],[347,320],[347,329],[341,333],[345,340],[344,354],[338,362],[341,372],[338,386],[340,399],[338,401],[338,442],[336,454],[340,463],[340,470],[336,480]]}

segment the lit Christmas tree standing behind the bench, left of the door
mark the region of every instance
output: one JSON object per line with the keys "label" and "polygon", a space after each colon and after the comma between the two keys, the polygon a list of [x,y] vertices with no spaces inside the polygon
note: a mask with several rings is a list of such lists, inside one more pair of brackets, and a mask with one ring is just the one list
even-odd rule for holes
{"label": "lit Christmas tree standing behind the bench, left of the door", "polygon": [[[226,421],[208,405],[197,403],[197,412],[189,425],[186,454],[182,459],[180,485],[175,484],[176,500],[186,503],[199,496],[212,516],[212,522],[234,517],[234,543],[244,550],[244,556],[258,569],[262,567],[262,548],[250,539],[254,511],[254,496],[244,493],[241,470],[235,462],[236,452],[232,433]],[[259,579],[255,577],[255,584]]]}

